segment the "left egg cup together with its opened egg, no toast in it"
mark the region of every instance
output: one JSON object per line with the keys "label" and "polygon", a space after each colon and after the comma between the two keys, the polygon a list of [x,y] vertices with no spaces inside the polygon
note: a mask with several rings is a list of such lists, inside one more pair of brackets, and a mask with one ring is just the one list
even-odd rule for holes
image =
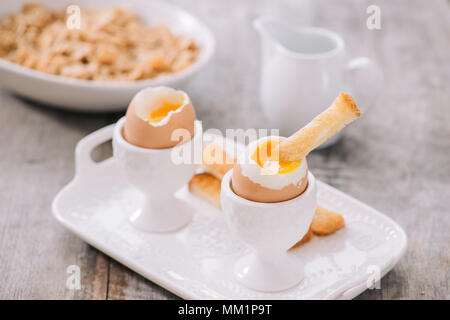
{"label": "left egg cup together with its opened egg, no toast in it", "polygon": [[[161,111],[163,108],[165,113]],[[151,115],[155,114],[157,121],[152,123]],[[189,140],[173,142],[171,135],[176,129],[185,129]],[[166,87],[147,88],[133,98],[126,117],[115,125],[113,152],[128,181],[144,195],[143,203],[130,216],[136,228],[170,232],[191,221],[194,209],[174,194],[194,175],[195,153],[200,150],[197,157],[201,157],[201,143],[201,123],[195,120],[192,104],[184,92]],[[188,155],[188,159],[174,161],[174,155]]]}

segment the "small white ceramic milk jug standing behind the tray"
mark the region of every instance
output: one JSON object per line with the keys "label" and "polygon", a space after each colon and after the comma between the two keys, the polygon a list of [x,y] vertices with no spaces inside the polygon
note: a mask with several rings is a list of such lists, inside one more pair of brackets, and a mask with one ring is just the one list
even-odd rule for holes
{"label": "small white ceramic milk jug standing behind the tray", "polygon": [[366,57],[349,61],[345,42],[335,32],[294,27],[272,17],[257,18],[254,27],[262,39],[261,105],[280,135],[305,126],[340,91],[350,93],[363,112],[379,94],[381,70]]}

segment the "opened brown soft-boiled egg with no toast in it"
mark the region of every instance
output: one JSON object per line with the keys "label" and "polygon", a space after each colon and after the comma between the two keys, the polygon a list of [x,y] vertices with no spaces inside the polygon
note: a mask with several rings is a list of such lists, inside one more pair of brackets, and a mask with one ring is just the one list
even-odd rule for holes
{"label": "opened brown soft-boiled egg with no toast in it", "polygon": [[176,129],[186,129],[194,136],[195,110],[188,95],[168,87],[150,87],[139,91],[126,113],[123,137],[129,143],[149,149],[177,145],[172,139]]}

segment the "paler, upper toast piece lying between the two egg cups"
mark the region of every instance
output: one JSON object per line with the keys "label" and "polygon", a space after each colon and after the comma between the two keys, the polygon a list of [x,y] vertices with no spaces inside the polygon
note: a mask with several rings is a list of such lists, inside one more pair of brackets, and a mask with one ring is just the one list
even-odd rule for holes
{"label": "paler, upper toast piece lying between the two egg cups", "polygon": [[235,163],[236,159],[215,143],[210,143],[203,148],[202,168],[217,179],[222,179]]}

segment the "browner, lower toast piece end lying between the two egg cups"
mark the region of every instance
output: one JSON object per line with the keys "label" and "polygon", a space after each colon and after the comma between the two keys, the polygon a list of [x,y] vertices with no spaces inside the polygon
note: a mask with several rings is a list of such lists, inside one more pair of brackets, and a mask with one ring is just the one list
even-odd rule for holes
{"label": "browner, lower toast piece end lying between the two egg cups", "polygon": [[220,180],[209,173],[199,173],[189,181],[189,191],[220,209]]}

